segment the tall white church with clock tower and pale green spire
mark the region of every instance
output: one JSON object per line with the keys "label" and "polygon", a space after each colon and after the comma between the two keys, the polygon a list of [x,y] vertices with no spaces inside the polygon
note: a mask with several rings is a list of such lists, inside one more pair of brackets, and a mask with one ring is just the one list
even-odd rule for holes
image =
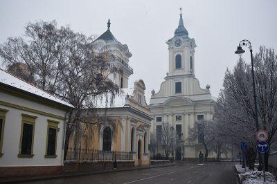
{"label": "tall white church with clock tower and pale green spire", "polygon": [[[183,138],[183,145],[175,149],[175,159],[186,160],[198,158],[202,146],[195,142],[188,142],[188,129],[197,120],[213,119],[215,100],[209,91],[210,86],[202,89],[195,78],[195,39],[188,37],[184,27],[182,14],[174,37],[168,42],[169,68],[165,81],[161,83],[158,93],[152,91],[150,99],[150,113],[153,116],[152,132],[161,131],[163,122],[172,125],[179,137]],[[181,136],[183,135],[183,136]],[[184,154],[183,154],[184,151]]]}

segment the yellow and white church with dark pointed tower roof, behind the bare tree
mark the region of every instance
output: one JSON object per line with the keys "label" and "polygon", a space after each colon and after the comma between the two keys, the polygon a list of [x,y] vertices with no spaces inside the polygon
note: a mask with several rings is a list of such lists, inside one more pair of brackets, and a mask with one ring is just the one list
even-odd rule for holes
{"label": "yellow and white church with dark pointed tower roof, behind the bare tree", "polygon": [[134,165],[148,165],[153,118],[145,101],[145,84],[136,80],[134,87],[128,88],[128,77],[133,73],[128,64],[132,54],[111,33],[110,22],[107,24],[107,31],[91,43],[91,48],[96,53],[105,48],[114,56],[110,62],[119,70],[110,79],[123,94],[97,98],[93,101],[96,108],[83,110],[82,117],[91,123],[82,124],[82,133],[71,136],[69,147],[78,149],[69,148],[66,160],[129,160]]}

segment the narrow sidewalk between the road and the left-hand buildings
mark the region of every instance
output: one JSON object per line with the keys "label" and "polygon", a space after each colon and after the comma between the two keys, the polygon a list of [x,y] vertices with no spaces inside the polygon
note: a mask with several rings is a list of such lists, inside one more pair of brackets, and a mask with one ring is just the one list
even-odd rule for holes
{"label": "narrow sidewalk between the road and the left-hand buildings", "polygon": [[0,183],[19,183],[19,182],[28,182],[28,181],[43,181],[43,180],[48,180],[48,179],[66,178],[66,177],[73,177],[73,176],[85,176],[85,175],[102,174],[102,173],[109,173],[109,172],[124,172],[124,171],[130,171],[130,170],[151,169],[151,168],[155,168],[155,167],[168,167],[168,166],[175,166],[175,163],[165,163],[165,164],[157,164],[157,165],[142,165],[142,166],[121,168],[121,169],[108,169],[108,170],[95,171],[95,172],[67,172],[67,173],[62,173],[62,174],[46,175],[46,176],[0,178]]}

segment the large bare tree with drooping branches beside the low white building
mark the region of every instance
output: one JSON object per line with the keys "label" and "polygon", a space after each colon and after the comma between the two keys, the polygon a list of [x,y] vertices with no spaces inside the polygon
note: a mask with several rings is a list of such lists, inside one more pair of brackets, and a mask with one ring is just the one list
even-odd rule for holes
{"label": "large bare tree with drooping branches beside the low white building", "polygon": [[24,62],[37,86],[75,107],[66,124],[65,158],[73,131],[82,131],[82,123],[101,123],[82,116],[83,109],[93,111],[97,98],[109,96],[107,103],[111,103],[120,93],[119,87],[109,80],[117,68],[109,63],[109,51],[93,53],[91,37],[74,33],[69,26],[57,28],[55,21],[28,23],[25,35],[8,38],[1,44],[0,57],[7,66]]}

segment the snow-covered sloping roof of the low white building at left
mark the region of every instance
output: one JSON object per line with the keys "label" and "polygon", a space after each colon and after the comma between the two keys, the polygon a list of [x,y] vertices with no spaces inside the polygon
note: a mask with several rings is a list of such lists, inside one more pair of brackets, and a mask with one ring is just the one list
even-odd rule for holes
{"label": "snow-covered sloping roof of the low white building at left", "polygon": [[17,89],[21,89],[22,91],[27,91],[29,93],[33,93],[42,98],[46,98],[48,100],[52,100],[52,101],[58,102],[60,104],[64,104],[68,107],[73,107],[73,105],[69,104],[68,102],[64,102],[63,100],[60,100],[59,98],[55,98],[55,96],[47,93],[46,91],[43,91],[42,89],[39,89],[38,87],[33,86],[32,84],[29,84],[28,82],[25,82],[24,80],[21,80],[18,77],[15,77],[14,75],[11,75],[10,73],[3,71],[0,68],[0,84],[1,83],[7,84],[9,86],[13,86]]}

